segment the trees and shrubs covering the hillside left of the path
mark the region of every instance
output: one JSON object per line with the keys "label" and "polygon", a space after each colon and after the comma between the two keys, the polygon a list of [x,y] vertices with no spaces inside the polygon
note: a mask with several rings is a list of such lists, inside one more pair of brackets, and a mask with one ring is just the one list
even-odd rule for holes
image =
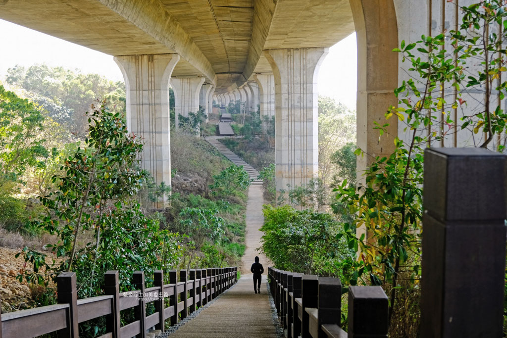
{"label": "trees and shrubs covering the hillside left of the path", "polygon": [[[27,264],[18,277],[31,286],[28,306],[54,303],[54,278],[63,271],[77,273],[79,296],[87,297],[102,293],[106,270],[120,270],[120,287],[129,290],[135,270],[144,270],[150,285],[156,269],[238,265],[246,172],[173,126],[169,195],[170,186],[155,185],[140,169],[142,141],[126,130],[124,104],[100,101],[85,118],[81,101],[63,105],[72,102],[66,101],[69,91],[88,89],[76,101],[103,94],[101,86],[89,87],[90,79],[105,81],[44,65],[15,67],[8,81],[19,95],[0,86],[0,245],[22,248],[19,255]],[[17,86],[28,84],[37,92]],[[124,92],[118,92],[117,101],[124,103]],[[50,109],[36,102],[43,95],[54,103]],[[60,119],[56,111],[64,110],[68,114]],[[170,203],[152,209],[163,195]],[[93,336],[100,327],[81,325],[80,335]]]}

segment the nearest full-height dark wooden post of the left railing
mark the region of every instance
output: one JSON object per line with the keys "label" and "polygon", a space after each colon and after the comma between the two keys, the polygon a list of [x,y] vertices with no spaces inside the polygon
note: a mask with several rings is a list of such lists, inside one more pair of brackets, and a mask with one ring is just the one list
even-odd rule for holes
{"label": "nearest full-height dark wooden post of the left railing", "polygon": [[79,337],[78,327],[78,291],[76,288],[76,273],[62,272],[56,277],[58,303],[68,304],[67,327],[60,333],[70,338]]}

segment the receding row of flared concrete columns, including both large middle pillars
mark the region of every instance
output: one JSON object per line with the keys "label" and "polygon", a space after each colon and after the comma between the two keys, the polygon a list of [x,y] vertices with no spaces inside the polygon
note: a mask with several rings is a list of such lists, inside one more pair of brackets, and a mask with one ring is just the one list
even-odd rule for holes
{"label": "receding row of flared concrete columns, including both large middle pillars", "polygon": [[277,191],[306,185],[317,175],[317,91],[315,74],[325,48],[264,52],[272,73],[254,74],[232,92],[214,94],[204,77],[171,77],[176,54],[117,56],[127,92],[127,126],[144,141],[142,167],[155,182],[171,184],[169,86],[174,91],[175,124],[199,106],[206,116],[213,99],[220,105],[244,102],[246,111],[275,117]]}

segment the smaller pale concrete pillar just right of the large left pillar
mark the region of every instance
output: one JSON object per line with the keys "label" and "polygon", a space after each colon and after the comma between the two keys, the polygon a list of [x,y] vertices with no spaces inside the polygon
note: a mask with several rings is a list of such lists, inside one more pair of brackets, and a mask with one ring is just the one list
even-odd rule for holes
{"label": "smaller pale concrete pillar just right of the large left pillar", "polygon": [[171,87],[174,91],[174,112],[176,129],[179,126],[178,116],[189,116],[189,112],[199,110],[199,93],[204,78],[172,78]]}

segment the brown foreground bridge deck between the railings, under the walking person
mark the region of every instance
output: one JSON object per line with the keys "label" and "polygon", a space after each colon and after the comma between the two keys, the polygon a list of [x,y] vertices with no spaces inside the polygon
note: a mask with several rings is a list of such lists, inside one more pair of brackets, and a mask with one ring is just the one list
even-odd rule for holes
{"label": "brown foreground bridge deck between the railings, under the walking person", "polygon": [[[266,268],[267,270],[267,268]],[[261,293],[253,293],[252,275],[239,281],[208,308],[169,335],[171,338],[277,338],[266,276]]]}

